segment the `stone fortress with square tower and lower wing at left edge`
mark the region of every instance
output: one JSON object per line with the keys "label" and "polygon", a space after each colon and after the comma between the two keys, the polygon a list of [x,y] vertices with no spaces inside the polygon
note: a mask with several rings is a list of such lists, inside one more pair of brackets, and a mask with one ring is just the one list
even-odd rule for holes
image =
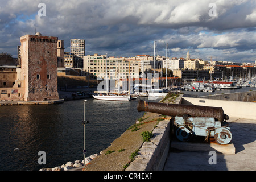
{"label": "stone fortress with square tower and lower wing at left edge", "polygon": [[3,65],[0,69],[0,101],[58,100],[58,38],[42,36],[38,32],[36,35],[22,36],[20,43],[21,45],[18,46],[20,64]]}

